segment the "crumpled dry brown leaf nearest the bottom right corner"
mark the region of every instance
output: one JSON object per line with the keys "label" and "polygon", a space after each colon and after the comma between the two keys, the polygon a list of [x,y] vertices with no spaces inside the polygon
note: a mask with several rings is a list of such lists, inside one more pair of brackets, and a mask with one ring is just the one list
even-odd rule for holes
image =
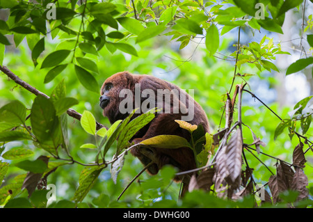
{"label": "crumpled dry brown leaf nearest the bottom right corner", "polygon": [[299,192],[297,201],[303,200],[309,196],[309,190],[307,189],[308,184],[309,182],[303,169],[296,167],[296,173],[294,173],[291,189]]}

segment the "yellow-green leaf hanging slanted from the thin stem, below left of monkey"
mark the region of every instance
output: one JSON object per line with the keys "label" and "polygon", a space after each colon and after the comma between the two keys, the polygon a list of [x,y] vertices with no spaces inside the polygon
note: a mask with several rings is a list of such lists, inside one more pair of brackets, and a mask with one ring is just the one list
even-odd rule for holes
{"label": "yellow-green leaf hanging slanted from the thin stem, below left of monkey", "polygon": [[97,177],[101,173],[103,167],[101,166],[87,166],[81,171],[79,176],[79,187],[74,193],[73,200],[75,202],[83,201],[83,198],[86,197],[87,193],[95,184]]}

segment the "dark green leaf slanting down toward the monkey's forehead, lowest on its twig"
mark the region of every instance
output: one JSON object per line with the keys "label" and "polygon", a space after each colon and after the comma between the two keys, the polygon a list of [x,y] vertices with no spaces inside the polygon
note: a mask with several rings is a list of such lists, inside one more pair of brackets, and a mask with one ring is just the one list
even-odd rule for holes
{"label": "dark green leaf slanting down toward the monkey's forehead, lowest on its twig", "polygon": [[90,72],[81,68],[78,65],[75,65],[75,72],[77,74],[77,78],[81,82],[81,84],[88,90],[93,91],[95,93],[99,93],[99,85],[95,77],[93,77]]}

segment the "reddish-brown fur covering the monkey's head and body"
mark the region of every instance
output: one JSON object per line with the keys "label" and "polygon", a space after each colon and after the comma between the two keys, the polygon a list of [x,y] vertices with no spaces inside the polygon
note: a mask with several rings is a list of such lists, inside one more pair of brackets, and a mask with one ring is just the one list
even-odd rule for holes
{"label": "reddish-brown fur covering the monkey's head and body", "polygon": [[[109,91],[105,91],[104,88],[107,84],[113,84],[113,88]],[[170,84],[167,81],[158,79],[157,77],[152,77],[144,74],[130,74],[129,72],[118,72],[113,74],[111,77],[104,81],[104,84],[101,89],[101,95],[106,95],[110,97],[109,104],[104,108],[104,116],[108,117],[110,122],[113,123],[116,120],[125,119],[128,114],[122,114],[119,111],[119,104],[123,98],[119,97],[120,90],[123,88],[129,88],[133,93],[135,90],[135,84],[141,84],[141,91],[150,88],[154,90],[155,95],[157,95],[157,89],[177,89],[180,90],[178,86]],[[182,92],[182,91],[180,91]],[[187,94],[187,99],[192,100],[193,98]],[[146,98],[143,98],[145,100]],[[174,100],[174,99],[173,99]],[[141,101],[141,102],[142,102]],[[188,102],[186,102],[188,105]],[[172,102],[171,102],[172,105]],[[182,105],[182,104],[181,104]],[[186,105],[186,106],[187,106]],[[135,107],[135,106],[134,106]],[[187,107],[188,108],[188,107]],[[172,107],[171,107],[172,109]],[[192,125],[200,125],[204,127],[205,132],[209,132],[209,123],[207,116],[204,113],[202,107],[194,102],[194,118],[189,121]],[[133,118],[136,118],[140,114],[135,114]],[[155,118],[143,129],[141,129],[130,142],[140,143],[141,141],[151,138],[153,136],[168,134],[168,135],[177,135],[190,140],[190,133],[186,129],[179,127],[175,120],[180,120],[182,118],[182,113],[156,113]],[[147,171],[151,174],[157,174],[159,169],[166,165],[171,164],[179,168],[179,171],[188,171],[195,168],[195,159],[193,152],[190,148],[178,148],[178,149],[161,149],[161,148],[150,148],[149,151],[154,156],[155,164],[152,164]],[[144,165],[150,163],[151,159],[146,157],[141,153],[141,148],[133,148],[131,154],[138,159]],[[177,180],[181,178],[176,178]]]}

